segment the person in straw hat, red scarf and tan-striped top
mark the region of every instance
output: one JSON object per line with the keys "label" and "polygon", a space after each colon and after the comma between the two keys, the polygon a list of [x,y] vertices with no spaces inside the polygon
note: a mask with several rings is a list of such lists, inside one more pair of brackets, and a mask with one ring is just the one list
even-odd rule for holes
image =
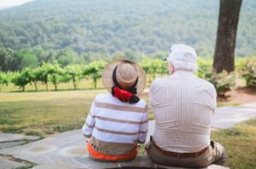
{"label": "person in straw hat, red scarf and tan-striped top", "polygon": [[137,155],[148,132],[148,106],[143,93],[146,75],[137,63],[118,59],[102,71],[109,93],[96,96],[82,132],[90,138],[87,149],[96,161],[129,161]]}

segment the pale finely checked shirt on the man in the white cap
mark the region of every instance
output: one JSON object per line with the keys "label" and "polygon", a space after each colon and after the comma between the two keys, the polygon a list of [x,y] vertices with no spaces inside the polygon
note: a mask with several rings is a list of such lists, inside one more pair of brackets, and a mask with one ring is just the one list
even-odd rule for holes
{"label": "pale finely checked shirt on the man in the white cap", "polygon": [[191,71],[176,70],[150,87],[154,111],[154,141],[162,149],[197,152],[210,144],[216,90]]}

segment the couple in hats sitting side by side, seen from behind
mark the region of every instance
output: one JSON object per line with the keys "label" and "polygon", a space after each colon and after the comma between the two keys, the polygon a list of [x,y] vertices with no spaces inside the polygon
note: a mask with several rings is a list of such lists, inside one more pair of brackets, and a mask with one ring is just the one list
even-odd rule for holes
{"label": "couple in hats sitting side by side, seen from behind", "polygon": [[[150,104],[154,112],[154,135],[145,144],[156,164],[203,167],[223,165],[224,147],[210,141],[216,91],[211,83],[194,75],[196,53],[183,44],[172,46],[170,76],[152,82]],[[98,94],[83,127],[90,138],[87,149],[97,161],[129,161],[148,132],[148,106],[137,95],[143,93],[146,76],[129,60],[115,60],[102,72],[108,94]]]}

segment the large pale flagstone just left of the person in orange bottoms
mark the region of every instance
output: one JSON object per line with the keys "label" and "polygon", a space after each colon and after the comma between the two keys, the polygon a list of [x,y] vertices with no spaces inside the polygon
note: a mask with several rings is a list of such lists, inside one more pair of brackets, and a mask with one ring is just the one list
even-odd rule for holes
{"label": "large pale flagstone just left of the person in orange bottoms", "polygon": [[[74,157],[86,157],[85,138],[81,130],[62,132],[30,144],[0,149],[0,155],[13,155],[39,165],[64,165],[77,168]],[[70,166],[70,167],[68,167]]]}

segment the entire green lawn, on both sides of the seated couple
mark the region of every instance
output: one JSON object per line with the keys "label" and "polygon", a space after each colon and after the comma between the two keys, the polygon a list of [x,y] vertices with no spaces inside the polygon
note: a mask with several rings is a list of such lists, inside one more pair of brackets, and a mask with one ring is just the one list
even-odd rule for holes
{"label": "entire green lawn, on both sides of the seated couple", "polygon": [[[97,93],[107,91],[0,93],[0,131],[46,137],[81,128]],[[143,99],[148,102],[147,95]],[[224,144],[230,168],[256,168],[256,119],[214,131],[212,140]]]}

